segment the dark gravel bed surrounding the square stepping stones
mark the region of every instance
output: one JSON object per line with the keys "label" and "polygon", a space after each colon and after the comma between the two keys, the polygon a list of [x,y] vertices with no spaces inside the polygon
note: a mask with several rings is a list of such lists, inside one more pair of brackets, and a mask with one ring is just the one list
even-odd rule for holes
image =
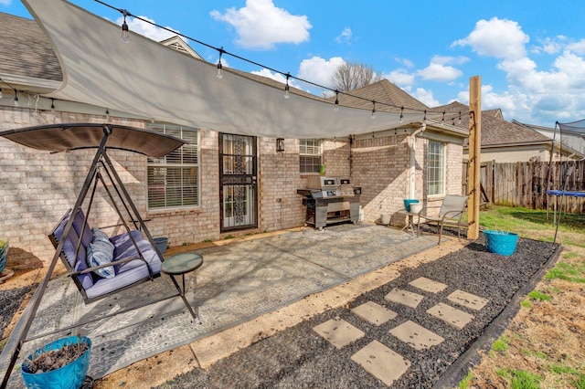
{"label": "dark gravel bed surrounding the square stepping stones", "polygon": [[[405,269],[399,279],[360,296],[349,305],[349,309],[328,310],[232,354],[215,363],[207,371],[194,369],[189,373],[177,375],[169,380],[168,384],[159,388],[386,387],[350,360],[354,353],[373,340],[382,342],[411,362],[410,369],[393,384],[393,387],[430,388],[450,374],[447,369],[462,357],[480,336],[492,331],[494,325],[490,328],[488,325],[495,321],[513,300],[518,289],[529,282],[537,281],[535,280],[537,271],[547,264],[557,248],[558,245],[552,243],[519,239],[515,254],[511,257],[502,257],[486,251],[484,237],[481,234],[478,240],[455,253],[419,268]],[[410,281],[420,277],[447,284],[449,288],[433,294],[409,285]],[[424,295],[425,298],[416,310],[384,300],[388,292],[394,288],[410,290]],[[438,302],[444,302],[455,289],[463,289],[489,300],[479,312],[467,310],[475,319],[461,331],[425,313]],[[350,312],[367,301],[377,302],[399,315],[379,327],[370,325]],[[517,305],[517,301],[513,305]],[[514,308],[513,305],[511,308]],[[457,308],[465,310],[463,307]],[[513,316],[516,312],[514,309],[505,310],[500,319],[505,315]],[[313,331],[315,325],[334,318],[350,322],[366,332],[366,336],[341,350],[335,349]],[[388,333],[392,328],[409,320],[438,333],[445,341],[430,350],[417,351]],[[485,345],[482,347],[485,348]],[[465,356],[458,363],[464,358]]]}

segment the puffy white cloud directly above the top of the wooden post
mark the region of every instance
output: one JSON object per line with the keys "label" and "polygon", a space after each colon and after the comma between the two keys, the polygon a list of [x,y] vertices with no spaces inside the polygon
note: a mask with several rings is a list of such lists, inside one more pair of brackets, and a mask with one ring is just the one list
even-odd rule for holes
{"label": "puffy white cloud directly above the top of the wooden post", "polygon": [[478,21],[469,36],[453,42],[452,46],[470,46],[482,56],[514,60],[526,56],[528,41],[529,37],[517,22],[493,17]]}

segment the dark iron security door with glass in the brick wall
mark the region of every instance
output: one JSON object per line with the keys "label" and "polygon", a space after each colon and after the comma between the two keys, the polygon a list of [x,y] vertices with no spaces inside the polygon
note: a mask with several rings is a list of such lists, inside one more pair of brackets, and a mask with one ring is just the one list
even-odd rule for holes
{"label": "dark iron security door with glass in the brick wall", "polygon": [[221,232],[258,226],[256,137],[219,134]]}

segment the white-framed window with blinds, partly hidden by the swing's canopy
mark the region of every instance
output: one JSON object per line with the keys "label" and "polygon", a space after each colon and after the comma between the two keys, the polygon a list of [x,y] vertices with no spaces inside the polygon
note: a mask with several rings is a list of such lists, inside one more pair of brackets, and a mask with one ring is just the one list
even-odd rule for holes
{"label": "white-framed window with blinds, partly hidden by the swing's canopy", "polygon": [[186,143],[163,158],[148,158],[148,209],[199,205],[199,131],[168,123],[148,123],[148,130]]}

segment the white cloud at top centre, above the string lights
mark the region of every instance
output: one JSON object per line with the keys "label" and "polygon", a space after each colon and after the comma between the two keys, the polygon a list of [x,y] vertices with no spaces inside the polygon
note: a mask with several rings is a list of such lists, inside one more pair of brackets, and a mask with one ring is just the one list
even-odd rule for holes
{"label": "white cloud at top centre, above the string lights", "polygon": [[246,0],[246,6],[231,7],[224,14],[210,15],[233,26],[238,34],[235,42],[241,47],[270,49],[278,43],[300,44],[309,40],[312,28],[307,16],[293,16],[274,6],[272,0]]}

